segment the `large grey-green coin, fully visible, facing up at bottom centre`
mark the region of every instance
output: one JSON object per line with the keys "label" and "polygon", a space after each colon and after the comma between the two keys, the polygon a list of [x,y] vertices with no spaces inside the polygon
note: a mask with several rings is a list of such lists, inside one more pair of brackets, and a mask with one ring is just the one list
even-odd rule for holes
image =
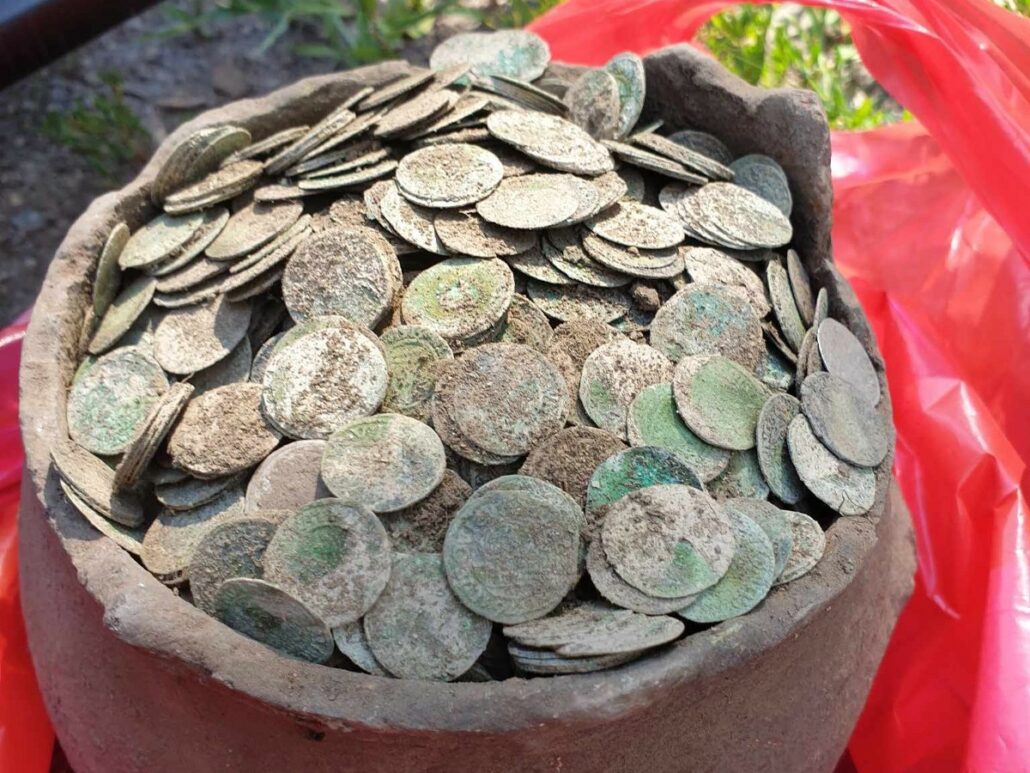
{"label": "large grey-green coin, fully visible, facing up at bottom centre", "polygon": [[577,575],[580,528],[555,504],[496,491],[458,510],[444,541],[447,580],[461,603],[495,623],[556,607]]}

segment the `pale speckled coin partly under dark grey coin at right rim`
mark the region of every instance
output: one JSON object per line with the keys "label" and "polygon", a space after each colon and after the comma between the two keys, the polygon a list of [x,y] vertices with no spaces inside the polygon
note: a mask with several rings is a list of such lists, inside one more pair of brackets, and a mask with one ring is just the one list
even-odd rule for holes
{"label": "pale speckled coin partly under dark grey coin at right rim", "polygon": [[804,488],[842,515],[862,515],[877,498],[877,476],[867,467],[837,459],[817,438],[804,415],[787,428],[787,447]]}

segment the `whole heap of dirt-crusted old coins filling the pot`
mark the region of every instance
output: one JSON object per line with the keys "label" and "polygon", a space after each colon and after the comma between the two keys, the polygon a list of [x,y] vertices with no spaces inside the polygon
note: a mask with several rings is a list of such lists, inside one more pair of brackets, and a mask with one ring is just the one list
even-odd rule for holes
{"label": "whole heap of dirt-crusted old coins filling the pot", "polygon": [[458,35],[174,148],[53,453],[91,524],[284,654],[414,679],[610,668],[818,564],[798,510],[868,511],[892,436],[786,172],[642,126],[633,55],[548,60]]}

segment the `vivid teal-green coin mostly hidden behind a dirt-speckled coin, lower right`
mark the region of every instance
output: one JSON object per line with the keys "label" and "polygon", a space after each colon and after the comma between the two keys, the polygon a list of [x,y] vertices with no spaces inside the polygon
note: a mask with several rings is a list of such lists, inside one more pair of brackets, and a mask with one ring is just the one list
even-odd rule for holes
{"label": "vivid teal-green coin mostly hidden behind a dirt-speckled coin, lower right", "polygon": [[702,488],[697,473],[673,451],[649,445],[627,448],[593,471],[586,490],[586,509],[596,510],[641,489],[672,483]]}

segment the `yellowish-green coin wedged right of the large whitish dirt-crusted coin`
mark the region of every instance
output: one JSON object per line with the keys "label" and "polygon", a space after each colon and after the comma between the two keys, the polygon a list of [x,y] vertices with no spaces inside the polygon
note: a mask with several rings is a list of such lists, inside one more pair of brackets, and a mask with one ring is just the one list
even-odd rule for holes
{"label": "yellowish-green coin wedged right of the large whitish dirt-crusted coin", "polygon": [[389,371],[382,409],[424,422],[433,407],[439,365],[454,359],[450,346],[432,330],[415,325],[387,328],[380,341]]}

